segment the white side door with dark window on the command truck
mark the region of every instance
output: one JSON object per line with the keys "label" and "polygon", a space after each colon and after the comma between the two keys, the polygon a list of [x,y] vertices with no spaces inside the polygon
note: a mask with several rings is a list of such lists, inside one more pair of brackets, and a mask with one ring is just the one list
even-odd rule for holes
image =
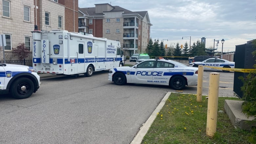
{"label": "white side door with dark window on the command truck", "polygon": [[84,42],[79,42],[78,41],[78,50],[77,50],[77,59],[76,59],[76,64],[77,64],[77,73],[82,73],[85,72],[85,61],[84,61]]}

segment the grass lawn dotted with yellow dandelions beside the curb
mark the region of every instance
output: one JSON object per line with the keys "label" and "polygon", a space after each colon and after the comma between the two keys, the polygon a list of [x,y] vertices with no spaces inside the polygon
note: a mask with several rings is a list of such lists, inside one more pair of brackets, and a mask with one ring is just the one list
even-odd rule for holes
{"label": "grass lawn dotted with yellow dandelions beside the curb", "polygon": [[208,99],[197,102],[196,95],[171,93],[141,144],[249,144],[250,132],[234,128],[225,113],[225,99],[241,100],[218,98],[217,130],[211,138],[206,135]]}

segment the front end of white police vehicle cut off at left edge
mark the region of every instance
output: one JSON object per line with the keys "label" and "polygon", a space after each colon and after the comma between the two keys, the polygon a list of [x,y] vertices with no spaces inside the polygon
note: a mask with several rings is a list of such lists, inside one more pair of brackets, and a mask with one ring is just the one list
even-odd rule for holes
{"label": "front end of white police vehicle cut off at left edge", "polygon": [[17,99],[28,98],[40,84],[40,76],[29,66],[0,64],[0,94],[8,94]]}

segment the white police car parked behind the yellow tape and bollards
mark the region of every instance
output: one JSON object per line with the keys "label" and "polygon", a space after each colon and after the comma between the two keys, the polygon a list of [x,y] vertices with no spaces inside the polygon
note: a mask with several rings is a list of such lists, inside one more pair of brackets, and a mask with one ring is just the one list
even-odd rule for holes
{"label": "white police car parked behind the yellow tape and bollards", "polygon": [[[198,65],[205,66],[203,70],[206,70],[206,71],[229,72],[228,68],[235,68],[235,62],[230,62],[228,60],[221,59],[221,58],[209,58],[202,62],[192,62],[189,64],[190,67],[198,67]],[[219,69],[214,69],[214,67]]]}

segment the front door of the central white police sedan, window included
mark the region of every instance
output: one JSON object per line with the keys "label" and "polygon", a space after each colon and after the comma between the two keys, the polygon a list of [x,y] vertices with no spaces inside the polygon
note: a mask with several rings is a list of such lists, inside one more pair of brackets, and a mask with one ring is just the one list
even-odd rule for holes
{"label": "front door of the central white police sedan, window included", "polygon": [[137,68],[132,68],[131,72],[135,72],[131,75],[131,81],[134,83],[147,84],[152,82],[152,72],[156,61],[143,61],[137,65]]}

